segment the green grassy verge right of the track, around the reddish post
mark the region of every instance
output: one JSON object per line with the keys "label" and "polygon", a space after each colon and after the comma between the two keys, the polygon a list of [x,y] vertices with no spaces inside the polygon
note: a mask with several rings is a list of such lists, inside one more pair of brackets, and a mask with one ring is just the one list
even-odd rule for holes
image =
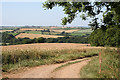
{"label": "green grassy verge right of the track, around the reddish post", "polygon": [[99,57],[94,57],[80,71],[81,78],[118,78],[119,53],[117,50],[105,49],[101,51],[101,71]]}

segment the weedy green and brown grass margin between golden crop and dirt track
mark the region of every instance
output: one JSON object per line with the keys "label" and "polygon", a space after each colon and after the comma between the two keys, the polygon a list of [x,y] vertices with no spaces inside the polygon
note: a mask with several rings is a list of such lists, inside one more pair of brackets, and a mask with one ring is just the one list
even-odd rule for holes
{"label": "weedy green and brown grass margin between golden crop and dirt track", "polygon": [[11,50],[2,51],[2,71],[9,72],[21,67],[33,67],[44,64],[63,63],[69,60],[80,59],[97,55],[99,50],[94,49],[64,49],[64,50]]}

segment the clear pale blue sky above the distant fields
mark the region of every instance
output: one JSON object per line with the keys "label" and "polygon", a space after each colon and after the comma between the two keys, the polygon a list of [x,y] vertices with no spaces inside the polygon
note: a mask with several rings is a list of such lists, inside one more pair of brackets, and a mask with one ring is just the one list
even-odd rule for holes
{"label": "clear pale blue sky above the distant fields", "polygon": [[[62,7],[44,10],[43,2],[2,2],[2,25],[23,26],[62,26],[61,19],[66,15]],[[80,16],[66,26],[88,26],[90,20],[83,21]]]}

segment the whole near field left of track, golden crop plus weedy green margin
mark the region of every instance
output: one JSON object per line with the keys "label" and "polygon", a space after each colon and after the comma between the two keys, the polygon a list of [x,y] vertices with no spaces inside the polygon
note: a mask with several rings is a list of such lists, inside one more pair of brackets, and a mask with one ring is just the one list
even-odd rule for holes
{"label": "whole near field left of track, golden crop plus weedy green margin", "polygon": [[85,44],[37,43],[2,46],[3,72],[94,56],[98,49]]}

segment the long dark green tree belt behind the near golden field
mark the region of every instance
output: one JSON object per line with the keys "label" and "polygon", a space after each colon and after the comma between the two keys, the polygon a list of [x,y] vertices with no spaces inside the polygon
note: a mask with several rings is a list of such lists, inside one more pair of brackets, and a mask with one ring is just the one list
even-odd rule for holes
{"label": "long dark green tree belt behind the near golden field", "polygon": [[28,37],[25,38],[15,38],[12,34],[8,34],[7,32],[0,33],[2,35],[2,40],[0,43],[2,45],[17,45],[17,44],[31,44],[31,43],[84,43],[87,44],[88,40],[83,36],[65,36],[58,38],[34,38],[30,39]]}

